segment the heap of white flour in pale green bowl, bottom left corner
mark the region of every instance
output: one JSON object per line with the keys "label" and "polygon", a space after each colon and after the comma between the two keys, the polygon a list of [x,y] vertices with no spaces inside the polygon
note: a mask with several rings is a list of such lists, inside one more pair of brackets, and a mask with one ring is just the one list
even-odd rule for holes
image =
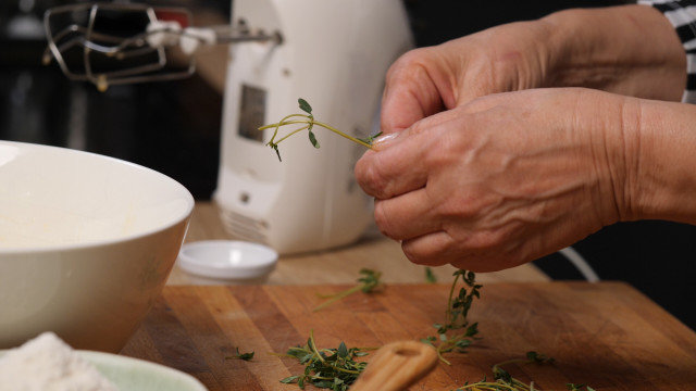
{"label": "heap of white flour in pale green bowl, bottom left corner", "polygon": [[196,378],[141,360],[75,351],[52,332],[0,351],[0,391],[206,391]]}

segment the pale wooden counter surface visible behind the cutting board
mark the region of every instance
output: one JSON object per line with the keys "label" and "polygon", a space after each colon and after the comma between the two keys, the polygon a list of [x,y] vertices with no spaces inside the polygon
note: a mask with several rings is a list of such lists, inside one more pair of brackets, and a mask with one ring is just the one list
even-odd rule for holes
{"label": "pale wooden counter surface visible behind the cutting board", "polygon": [[[219,217],[213,202],[197,202],[191,217],[186,241],[231,239]],[[409,262],[399,243],[385,237],[373,236],[345,248],[300,255],[281,256],[276,269],[265,283],[269,285],[314,285],[352,283],[358,272],[363,268],[383,272],[385,282],[424,282],[424,268]],[[433,268],[440,281],[448,281],[455,272],[452,266]],[[548,277],[533,265],[522,265],[512,269],[480,275],[482,282],[539,282]],[[222,280],[196,277],[174,267],[167,285],[221,285]]]}

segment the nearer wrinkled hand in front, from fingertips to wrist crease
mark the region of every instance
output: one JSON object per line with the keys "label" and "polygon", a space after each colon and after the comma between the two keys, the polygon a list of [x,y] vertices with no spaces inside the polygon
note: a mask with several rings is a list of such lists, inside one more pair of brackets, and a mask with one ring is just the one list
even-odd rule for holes
{"label": "nearer wrinkled hand in front, from fingertips to wrist crease", "polygon": [[560,88],[480,98],[369,151],[356,176],[412,262],[517,266],[621,218],[634,101]]}

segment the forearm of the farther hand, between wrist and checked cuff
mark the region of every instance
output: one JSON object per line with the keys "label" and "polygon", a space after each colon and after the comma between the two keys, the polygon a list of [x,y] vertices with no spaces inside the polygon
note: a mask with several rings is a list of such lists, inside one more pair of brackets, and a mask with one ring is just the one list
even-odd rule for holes
{"label": "forearm of the farther hand, between wrist and checked cuff", "polygon": [[588,87],[679,101],[686,55],[669,21],[646,5],[568,10],[539,21],[554,31],[547,87]]}

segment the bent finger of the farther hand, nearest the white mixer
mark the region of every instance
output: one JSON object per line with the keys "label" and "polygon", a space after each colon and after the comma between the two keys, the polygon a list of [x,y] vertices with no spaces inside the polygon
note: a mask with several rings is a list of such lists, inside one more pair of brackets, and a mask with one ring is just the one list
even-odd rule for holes
{"label": "bent finger of the farther hand, nearest the white mixer", "polygon": [[444,109],[434,74],[432,49],[412,50],[397,60],[386,77],[382,98],[382,131],[401,131]]}

